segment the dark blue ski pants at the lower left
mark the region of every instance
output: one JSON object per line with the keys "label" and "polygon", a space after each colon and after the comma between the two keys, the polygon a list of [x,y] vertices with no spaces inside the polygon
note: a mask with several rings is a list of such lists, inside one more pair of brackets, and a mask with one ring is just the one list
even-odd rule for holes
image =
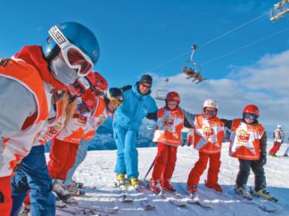
{"label": "dark blue ski pants at the lower left", "polygon": [[45,147],[31,148],[29,155],[22,159],[20,168],[14,173],[11,180],[11,216],[18,215],[29,190],[31,216],[54,216],[55,197],[52,193],[53,183],[45,161]]}

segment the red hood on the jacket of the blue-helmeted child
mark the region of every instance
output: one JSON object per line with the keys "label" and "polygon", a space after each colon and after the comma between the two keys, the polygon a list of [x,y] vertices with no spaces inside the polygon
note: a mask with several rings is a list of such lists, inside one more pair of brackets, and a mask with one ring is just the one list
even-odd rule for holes
{"label": "red hood on the jacket of the blue-helmeted child", "polygon": [[67,89],[67,86],[55,79],[50,72],[48,63],[43,57],[41,46],[24,46],[20,52],[14,55],[14,57],[16,59],[25,60],[25,62],[29,63],[33,68],[37,68],[37,71],[45,83],[52,85],[57,90]]}

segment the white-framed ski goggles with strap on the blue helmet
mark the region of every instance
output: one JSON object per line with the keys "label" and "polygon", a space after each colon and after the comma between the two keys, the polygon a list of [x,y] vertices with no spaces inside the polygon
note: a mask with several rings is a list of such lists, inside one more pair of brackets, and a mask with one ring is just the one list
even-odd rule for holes
{"label": "white-framed ski goggles with strap on the blue helmet", "polygon": [[48,33],[61,48],[65,63],[74,69],[78,73],[78,76],[87,76],[92,68],[94,68],[94,63],[87,54],[82,52],[76,45],[71,44],[57,26],[50,28]]}

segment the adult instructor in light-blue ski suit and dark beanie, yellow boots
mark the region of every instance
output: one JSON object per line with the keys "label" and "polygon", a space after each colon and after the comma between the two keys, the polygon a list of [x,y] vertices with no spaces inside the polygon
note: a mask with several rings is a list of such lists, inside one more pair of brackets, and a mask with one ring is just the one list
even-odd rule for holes
{"label": "adult instructor in light-blue ski suit and dark beanie, yellow boots", "polygon": [[139,174],[136,133],[142,120],[158,110],[150,95],[152,84],[152,76],[144,75],[135,85],[123,87],[124,101],[113,117],[113,136],[118,148],[115,166],[117,181],[123,184],[127,174],[135,188],[138,187]]}

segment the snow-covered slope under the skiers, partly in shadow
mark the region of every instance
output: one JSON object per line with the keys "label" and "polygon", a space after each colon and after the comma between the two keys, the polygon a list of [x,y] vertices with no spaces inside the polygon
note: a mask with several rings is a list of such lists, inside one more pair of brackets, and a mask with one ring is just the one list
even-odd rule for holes
{"label": "snow-covered slope under the skiers, partly in shadow", "polygon": [[[269,143],[268,149],[271,148],[272,142]],[[278,151],[277,155],[283,155],[286,144]],[[144,178],[149,166],[153,162],[157,148],[138,148],[139,151],[139,172],[140,178]],[[206,172],[202,174],[199,193],[200,198],[206,204],[213,206],[213,209],[202,209],[197,205],[186,204],[186,207],[180,208],[169,204],[167,200],[159,196],[148,196],[156,206],[155,210],[144,211],[136,198],[133,203],[121,203],[120,189],[114,188],[113,172],[116,158],[115,150],[90,151],[83,164],[80,165],[75,174],[75,180],[83,182],[86,186],[95,186],[96,189],[86,189],[85,196],[76,197],[81,205],[119,207],[118,215],[265,215],[272,214],[263,212],[256,205],[244,204],[230,198],[234,195],[235,177],[238,172],[238,161],[227,155],[228,143],[223,144],[221,156],[221,169],[219,172],[219,184],[225,189],[229,196],[222,196],[218,193],[206,189],[203,185],[206,179]],[[178,148],[178,162],[174,172],[172,182],[178,189],[178,186],[186,187],[188,173],[191,171],[194,163],[198,158],[198,152],[191,147]],[[277,209],[273,215],[289,215],[289,158],[268,156],[268,162],[265,165],[268,190],[273,196],[279,199],[277,204],[263,201],[260,198],[258,202],[264,202],[270,207]],[[248,186],[253,186],[253,174],[248,181]],[[137,196],[132,192],[131,196]]]}

